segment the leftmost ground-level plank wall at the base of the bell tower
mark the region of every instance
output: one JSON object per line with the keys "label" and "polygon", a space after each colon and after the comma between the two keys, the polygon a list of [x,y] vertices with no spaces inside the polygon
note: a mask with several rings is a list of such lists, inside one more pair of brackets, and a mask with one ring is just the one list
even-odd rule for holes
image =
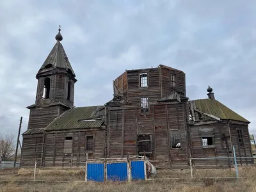
{"label": "leftmost ground-level plank wall at the base of the bell tower", "polygon": [[23,136],[21,166],[34,166],[40,164],[43,145],[43,134]]}

